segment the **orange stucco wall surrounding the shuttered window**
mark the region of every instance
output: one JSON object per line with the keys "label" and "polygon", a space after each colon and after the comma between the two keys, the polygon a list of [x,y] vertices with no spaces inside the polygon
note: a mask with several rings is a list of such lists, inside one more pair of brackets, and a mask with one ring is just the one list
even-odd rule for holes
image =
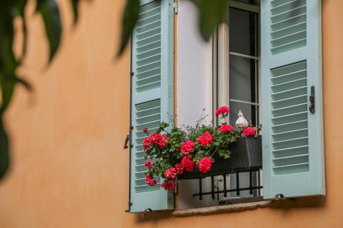
{"label": "orange stucco wall surrounding the shuttered window", "polygon": [[[33,5],[29,45],[19,72],[34,86],[16,88],[6,114],[12,170],[0,182],[0,227],[343,227],[342,0],[323,4],[324,142],[327,197],[278,208],[175,218],[127,214],[129,55],[113,56],[124,0],[82,1],[73,29],[69,1],[56,60],[44,69],[47,42]],[[20,24],[20,23],[19,23]],[[20,54],[20,38],[16,52]]]}

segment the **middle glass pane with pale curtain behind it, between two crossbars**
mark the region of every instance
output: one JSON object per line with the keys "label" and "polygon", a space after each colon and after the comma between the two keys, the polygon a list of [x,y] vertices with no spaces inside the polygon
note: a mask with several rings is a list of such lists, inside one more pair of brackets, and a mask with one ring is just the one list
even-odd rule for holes
{"label": "middle glass pane with pale curtain behind it, between two crossbars", "polygon": [[239,101],[257,101],[256,65],[257,60],[230,55],[230,99]]}

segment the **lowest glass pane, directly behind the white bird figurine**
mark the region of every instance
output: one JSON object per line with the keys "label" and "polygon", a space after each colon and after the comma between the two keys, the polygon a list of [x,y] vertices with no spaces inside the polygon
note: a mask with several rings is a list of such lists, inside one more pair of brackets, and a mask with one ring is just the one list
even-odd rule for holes
{"label": "lowest glass pane, directly behind the white bird figurine", "polygon": [[237,103],[237,102],[230,102],[230,124],[235,125],[237,118],[238,118],[238,112],[241,110],[241,112],[244,114],[244,118],[248,122],[252,122],[252,125],[255,127],[257,124],[258,116],[257,116],[257,107],[255,105],[249,105],[245,103]]}

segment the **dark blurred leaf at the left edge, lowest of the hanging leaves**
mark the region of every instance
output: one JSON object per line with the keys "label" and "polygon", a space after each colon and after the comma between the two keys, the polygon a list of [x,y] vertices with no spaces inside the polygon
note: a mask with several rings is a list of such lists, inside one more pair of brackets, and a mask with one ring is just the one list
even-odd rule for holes
{"label": "dark blurred leaf at the left edge, lowest of the hanging leaves", "polygon": [[3,112],[0,114],[0,179],[10,167],[8,136],[3,125]]}

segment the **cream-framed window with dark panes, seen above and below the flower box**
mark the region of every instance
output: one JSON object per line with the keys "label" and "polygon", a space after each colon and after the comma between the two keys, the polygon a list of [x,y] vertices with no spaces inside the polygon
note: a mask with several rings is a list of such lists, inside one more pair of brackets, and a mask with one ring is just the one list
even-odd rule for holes
{"label": "cream-framed window with dark panes, seen above and below the flower box", "polygon": [[[218,77],[217,80],[224,82],[225,86],[214,84],[217,88],[214,90],[217,94],[214,97],[220,97],[220,104],[215,103],[214,108],[220,105],[228,105],[230,107],[229,121],[231,125],[235,125],[238,112],[244,114],[244,117],[257,126],[261,123],[260,112],[260,55],[259,55],[259,5],[255,5],[254,1],[231,1],[228,9],[227,23],[222,25],[218,31],[218,36],[224,36],[224,39],[218,39],[218,44],[215,51],[219,53],[217,60],[219,68],[222,68],[220,74],[214,74]],[[226,27],[228,25],[228,27]],[[223,48],[224,47],[224,48]],[[222,53],[220,53],[222,52]],[[223,64],[225,62],[225,64]],[[261,186],[261,172],[253,172],[252,186]],[[223,188],[222,177],[217,177],[220,190]],[[230,174],[226,180],[227,188],[237,188],[237,183],[241,188],[250,186],[250,173]],[[252,194],[250,194],[252,193]],[[244,190],[230,192],[230,197],[222,199],[246,198],[255,201],[254,197],[260,197],[262,190]],[[239,201],[241,202],[241,201]],[[223,203],[223,202],[221,202]],[[230,203],[230,201],[228,201]]]}

